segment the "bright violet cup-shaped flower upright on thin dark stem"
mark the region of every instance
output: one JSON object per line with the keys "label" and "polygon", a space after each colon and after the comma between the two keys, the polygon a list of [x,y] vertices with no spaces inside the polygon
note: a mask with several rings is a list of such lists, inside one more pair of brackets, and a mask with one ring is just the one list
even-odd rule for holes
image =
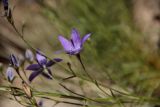
{"label": "bright violet cup-shaped flower upright on thin dark stem", "polygon": [[63,36],[59,36],[58,38],[67,54],[77,55],[81,52],[84,42],[90,37],[90,35],[91,33],[86,34],[81,39],[79,32],[76,29],[72,29],[71,40],[67,40]]}

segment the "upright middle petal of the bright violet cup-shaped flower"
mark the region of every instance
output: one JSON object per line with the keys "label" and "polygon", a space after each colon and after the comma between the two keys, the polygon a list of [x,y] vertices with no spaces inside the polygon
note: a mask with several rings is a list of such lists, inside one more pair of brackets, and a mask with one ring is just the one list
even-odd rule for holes
{"label": "upright middle petal of the bright violet cup-shaped flower", "polygon": [[81,38],[79,32],[76,29],[72,29],[71,40],[73,41],[73,45],[76,49],[80,48]]}

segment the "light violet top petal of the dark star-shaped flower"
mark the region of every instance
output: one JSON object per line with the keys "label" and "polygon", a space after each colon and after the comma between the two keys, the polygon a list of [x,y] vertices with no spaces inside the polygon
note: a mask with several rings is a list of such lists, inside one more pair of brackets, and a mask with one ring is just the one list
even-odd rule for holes
{"label": "light violet top petal of the dark star-shaped flower", "polygon": [[40,53],[40,51],[37,51],[36,59],[40,65],[46,65],[47,63],[47,58],[42,53]]}

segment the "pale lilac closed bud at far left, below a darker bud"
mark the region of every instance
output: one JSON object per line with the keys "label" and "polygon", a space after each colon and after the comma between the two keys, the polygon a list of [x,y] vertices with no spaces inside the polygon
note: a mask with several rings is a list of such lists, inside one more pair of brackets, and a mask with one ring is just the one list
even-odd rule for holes
{"label": "pale lilac closed bud at far left, below a darker bud", "polygon": [[12,67],[7,68],[6,77],[10,83],[13,82],[15,75],[14,75],[14,69]]}

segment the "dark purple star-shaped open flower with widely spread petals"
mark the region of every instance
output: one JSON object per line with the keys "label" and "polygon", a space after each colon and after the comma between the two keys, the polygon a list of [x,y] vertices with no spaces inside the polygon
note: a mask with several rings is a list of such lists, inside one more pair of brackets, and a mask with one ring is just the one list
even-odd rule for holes
{"label": "dark purple star-shaped open flower with widely spread petals", "polygon": [[39,74],[42,74],[48,79],[52,79],[52,73],[50,67],[56,62],[62,61],[60,58],[54,58],[53,60],[47,61],[47,57],[43,55],[40,51],[36,53],[37,64],[31,64],[27,67],[27,70],[32,70],[33,72],[29,76],[29,81],[31,82]]}

